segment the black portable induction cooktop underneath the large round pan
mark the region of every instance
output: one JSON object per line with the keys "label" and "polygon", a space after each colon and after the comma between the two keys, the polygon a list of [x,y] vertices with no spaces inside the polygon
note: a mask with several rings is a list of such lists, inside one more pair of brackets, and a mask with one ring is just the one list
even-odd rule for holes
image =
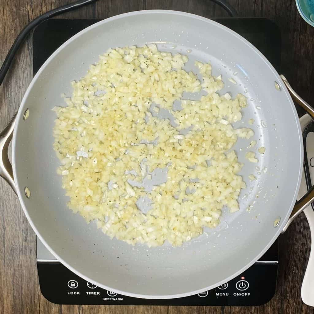
{"label": "black portable induction cooktop underneath the large round pan", "polygon": [[[214,19],[236,31],[260,50],[280,72],[281,35],[276,24],[263,18]],[[34,75],[65,41],[99,19],[48,19],[33,35]],[[63,266],[37,238],[37,268],[43,296],[57,304],[257,306],[275,293],[278,241],[250,268],[219,287],[178,299],[150,300],[101,289]]]}

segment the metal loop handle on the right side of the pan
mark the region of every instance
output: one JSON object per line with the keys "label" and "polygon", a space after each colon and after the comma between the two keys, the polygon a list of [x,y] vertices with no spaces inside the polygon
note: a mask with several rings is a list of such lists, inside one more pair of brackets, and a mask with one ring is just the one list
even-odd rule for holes
{"label": "metal loop handle on the right side of the pan", "polygon": [[[284,84],[286,85],[293,101],[297,103],[298,105],[300,105],[314,120],[314,109],[292,89],[292,87],[290,86],[290,84],[288,83],[284,75],[281,74],[280,77],[282,78]],[[286,231],[289,225],[291,224],[291,222],[293,221],[293,219],[295,219],[297,215],[303,212],[303,210],[308,205],[310,205],[313,201],[314,201],[314,186],[311,187],[311,189],[295,203],[295,206],[292,210],[290,218],[288,219],[287,223],[284,225],[284,228],[282,229],[282,231],[283,232]]]}

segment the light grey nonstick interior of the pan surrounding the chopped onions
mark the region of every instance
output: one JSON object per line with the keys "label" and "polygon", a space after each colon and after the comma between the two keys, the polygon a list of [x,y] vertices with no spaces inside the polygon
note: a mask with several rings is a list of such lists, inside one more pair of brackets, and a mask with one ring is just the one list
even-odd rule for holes
{"label": "light grey nonstick interior of the pan surrounding the chopped onions", "polygon": [[[235,150],[245,165],[240,210],[223,210],[221,224],[181,247],[148,248],[110,240],[95,223],[67,208],[52,148],[56,115],[71,95],[70,82],[87,73],[89,64],[110,47],[157,43],[158,48],[210,61],[225,88],[243,93],[249,106],[235,127],[252,127],[257,148],[266,152],[253,164],[245,159],[248,140]],[[232,84],[228,78],[234,78]],[[280,90],[275,88],[278,82]],[[26,108],[30,116],[26,121]],[[248,120],[255,123],[249,126]],[[96,23],[73,36],[41,67],[22,101],[13,137],[13,168],[19,198],[37,235],[61,263],[84,279],[118,293],[145,298],[192,295],[222,284],[260,257],[287,221],[300,185],[303,147],[300,125],[287,89],[271,64],[241,36],[197,15],[175,11],[140,11]],[[252,139],[251,139],[252,140]],[[240,147],[244,148],[240,150]],[[260,173],[260,174],[257,174]],[[257,181],[250,182],[253,174]],[[28,199],[24,187],[29,187]],[[250,211],[248,206],[252,205]],[[274,221],[280,217],[277,227]],[[277,220],[278,221],[278,220]]]}

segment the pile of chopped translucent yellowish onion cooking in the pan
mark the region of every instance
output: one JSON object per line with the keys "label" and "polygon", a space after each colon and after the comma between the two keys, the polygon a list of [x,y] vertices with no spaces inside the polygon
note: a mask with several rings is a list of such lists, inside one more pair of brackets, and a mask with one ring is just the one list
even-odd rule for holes
{"label": "pile of chopped translucent yellowish onion cooking in the pan", "polygon": [[[109,49],[84,78],[72,82],[67,107],[53,109],[54,149],[68,206],[88,222],[97,220],[111,238],[180,246],[204,226],[216,227],[223,206],[239,209],[237,198],[246,185],[230,149],[237,137],[254,133],[231,123],[241,120],[246,98],[219,96],[224,84],[211,75],[211,65],[196,62],[199,79],[183,69],[187,61],[154,44]],[[172,110],[183,92],[201,89],[207,92],[201,100],[182,100],[182,110]],[[169,110],[177,126],[152,116],[152,104]],[[163,168],[167,180],[146,189],[143,182]],[[152,203],[144,213],[136,202],[147,197]]]}

